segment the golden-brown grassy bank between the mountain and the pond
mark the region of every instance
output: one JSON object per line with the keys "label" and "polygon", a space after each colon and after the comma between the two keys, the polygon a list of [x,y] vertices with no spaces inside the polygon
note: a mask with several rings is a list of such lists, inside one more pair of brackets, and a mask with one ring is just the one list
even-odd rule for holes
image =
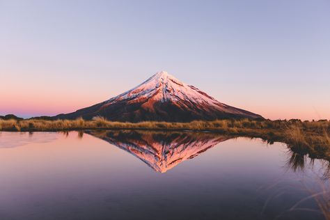
{"label": "golden-brown grassy bank between the mountain and the pond", "polygon": [[214,120],[192,121],[190,123],[141,122],[120,123],[105,120],[1,120],[0,131],[10,132],[53,132],[77,129],[150,129],[150,130],[193,130],[209,131],[235,136],[249,136],[264,139],[269,143],[281,141],[290,148],[308,152],[315,158],[330,159],[329,120]]}

